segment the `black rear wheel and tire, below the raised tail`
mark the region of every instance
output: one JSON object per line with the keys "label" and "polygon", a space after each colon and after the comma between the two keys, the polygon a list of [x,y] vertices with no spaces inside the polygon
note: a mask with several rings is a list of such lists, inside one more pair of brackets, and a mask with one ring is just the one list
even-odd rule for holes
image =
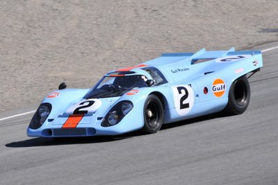
{"label": "black rear wheel and tire, below the raised tail", "polygon": [[250,102],[250,85],[246,76],[236,79],[229,89],[229,100],[222,113],[243,114]]}

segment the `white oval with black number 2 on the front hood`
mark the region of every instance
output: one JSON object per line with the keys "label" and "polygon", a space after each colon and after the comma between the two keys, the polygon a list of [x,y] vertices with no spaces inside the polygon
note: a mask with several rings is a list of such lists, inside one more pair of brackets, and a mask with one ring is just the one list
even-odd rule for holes
{"label": "white oval with black number 2 on the front hood", "polygon": [[67,114],[89,114],[96,112],[100,106],[101,100],[99,99],[83,100],[72,105],[66,112]]}

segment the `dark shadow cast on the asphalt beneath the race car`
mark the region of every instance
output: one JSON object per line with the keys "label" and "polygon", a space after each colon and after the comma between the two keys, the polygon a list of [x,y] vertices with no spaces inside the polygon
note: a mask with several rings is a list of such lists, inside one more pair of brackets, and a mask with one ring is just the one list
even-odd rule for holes
{"label": "dark shadow cast on the asphalt beneath the race car", "polygon": [[[202,121],[208,121],[213,118],[221,117],[217,114],[210,114],[206,116],[200,116],[197,118],[191,118],[186,121],[178,121],[170,124],[165,124],[161,127],[161,130],[171,129],[173,127],[180,127],[182,125],[188,125],[192,123],[198,123]],[[129,132],[117,136],[88,136],[88,137],[66,137],[66,138],[32,138],[24,141],[15,141],[7,143],[5,146],[8,148],[26,148],[35,146],[59,146],[59,145],[72,145],[72,144],[86,144],[86,143],[106,143],[119,141],[123,139],[129,139],[134,136],[143,136],[145,133],[140,131]]]}

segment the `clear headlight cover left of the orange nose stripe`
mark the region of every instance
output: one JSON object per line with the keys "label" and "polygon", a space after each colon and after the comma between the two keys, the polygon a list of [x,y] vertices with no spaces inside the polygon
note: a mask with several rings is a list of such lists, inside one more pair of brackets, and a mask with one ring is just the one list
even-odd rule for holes
{"label": "clear headlight cover left of the orange nose stripe", "polygon": [[35,112],[29,127],[31,129],[38,129],[42,126],[51,112],[52,106],[50,103],[42,103]]}

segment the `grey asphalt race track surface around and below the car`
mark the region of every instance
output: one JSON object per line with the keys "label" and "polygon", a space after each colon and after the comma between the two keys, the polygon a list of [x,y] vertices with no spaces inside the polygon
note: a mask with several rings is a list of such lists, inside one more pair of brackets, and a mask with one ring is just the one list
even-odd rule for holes
{"label": "grey asphalt race track surface around and below the car", "polygon": [[[28,105],[0,113],[0,184],[278,184],[278,43],[263,50],[239,116],[163,126],[156,134],[32,139]],[[272,50],[265,50],[270,49]],[[6,118],[6,119],[3,119]]]}

